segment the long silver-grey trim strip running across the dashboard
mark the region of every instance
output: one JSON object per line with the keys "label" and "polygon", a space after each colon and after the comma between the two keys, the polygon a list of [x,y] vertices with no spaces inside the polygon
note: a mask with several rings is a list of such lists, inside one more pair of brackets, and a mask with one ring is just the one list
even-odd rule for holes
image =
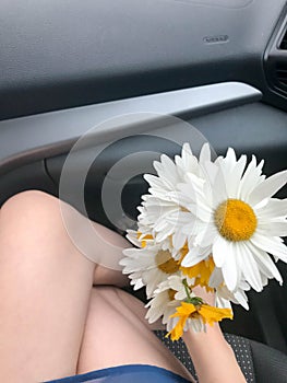
{"label": "long silver-grey trim strip running across the dashboard", "polygon": [[[98,142],[142,132],[144,120],[137,113],[191,116],[207,114],[261,100],[261,92],[240,82],[226,82],[180,91],[101,103],[0,121],[0,174],[43,158],[68,152],[88,129],[98,125]],[[134,114],[134,124],[112,126],[100,123],[112,117]],[[148,117],[151,118],[151,116]],[[142,130],[139,130],[142,129]]]}

